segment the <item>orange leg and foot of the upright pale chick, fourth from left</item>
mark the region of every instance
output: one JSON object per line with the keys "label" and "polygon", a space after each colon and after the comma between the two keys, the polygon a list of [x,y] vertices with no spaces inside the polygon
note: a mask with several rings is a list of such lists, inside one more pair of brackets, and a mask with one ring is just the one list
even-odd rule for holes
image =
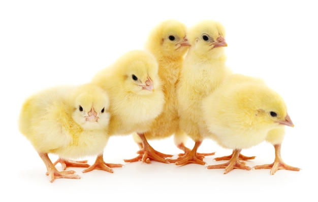
{"label": "orange leg and foot of the upright pale chick, fourth from left", "polygon": [[203,161],[204,155],[199,155],[197,153],[197,150],[199,146],[201,145],[202,141],[196,141],[195,146],[193,149],[185,153],[183,156],[177,158],[175,161],[175,165],[177,166],[184,166],[186,164],[200,164],[200,165],[205,165],[205,162]]}

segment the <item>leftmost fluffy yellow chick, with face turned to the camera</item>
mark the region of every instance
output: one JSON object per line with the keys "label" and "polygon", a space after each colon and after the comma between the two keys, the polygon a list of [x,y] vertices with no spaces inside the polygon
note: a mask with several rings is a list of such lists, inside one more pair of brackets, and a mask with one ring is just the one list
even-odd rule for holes
{"label": "leftmost fluffy yellow chick, with face turned to the camera", "polygon": [[42,158],[50,182],[80,176],[75,171],[58,171],[48,153],[70,159],[103,152],[109,138],[109,104],[105,91],[92,84],[53,87],[26,99],[19,130]]}

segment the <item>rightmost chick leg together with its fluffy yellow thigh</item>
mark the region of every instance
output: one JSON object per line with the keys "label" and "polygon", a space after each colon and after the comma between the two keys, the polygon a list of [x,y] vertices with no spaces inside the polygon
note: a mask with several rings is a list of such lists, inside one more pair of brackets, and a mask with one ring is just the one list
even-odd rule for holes
{"label": "rightmost chick leg together with its fluffy yellow thigh", "polygon": [[300,168],[292,167],[285,164],[280,155],[281,143],[285,135],[285,127],[281,126],[268,132],[266,141],[271,143],[275,148],[275,160],[272,164],[265,164],[253,167],[253,169],[271,169],[270,174],[274,175],[279,169],[300,171]]}

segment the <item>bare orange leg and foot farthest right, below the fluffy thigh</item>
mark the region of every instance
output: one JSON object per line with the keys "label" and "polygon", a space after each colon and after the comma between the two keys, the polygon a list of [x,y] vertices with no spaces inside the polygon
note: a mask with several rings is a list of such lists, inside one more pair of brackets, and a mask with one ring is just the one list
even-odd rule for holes
{"label": "bare orange leg and foot farthest right, below the fluffy thigh", "polygon": [[280,149],[281,149],[281,144],[275,144],[275,160],[274,163],[272,164],[265,164],[265,165],[260,165],[260,166],[255,166],[253,169],[271,169],[271,175],[274,175],[276,171],[283,169],[283,170],[290,170],[290,171],[300,171],[299,168],[289,166],[284,163],[280,156]]}

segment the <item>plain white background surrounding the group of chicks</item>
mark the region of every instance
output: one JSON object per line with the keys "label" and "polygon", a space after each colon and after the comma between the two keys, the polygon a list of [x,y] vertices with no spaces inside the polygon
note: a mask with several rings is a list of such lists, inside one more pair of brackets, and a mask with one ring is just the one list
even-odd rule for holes
{"label": "plain white background surrounding the group of chicks", "polygon": [[[2,1],[0,197],[10,197],[6,201],[17,197],[35,201],[316,200],[318,15],[309,2],[313,1]],[[115,168],[113,174],[83,174],[83,169],[75,168],[80,180],[50,183],[41,158],[18,131],[24,99],[54,85],[88,82],[123,53],[142,49],[150,29],[170,18],[187,26],[203,19],[225,25],[229,67],[263,77],[287,102],[295,127],[288,128],[281,154],[285,163],[302,170],[279,170],[272,176],[269,170],[236,169],[224,175],[222,169],[194,164],[126,164],[123,159],[135,157],[138,147],[131,136],[117,136],[110,138],[104,159],[125,167]],[[180,152],[171,138],[150,144],[161,152]],[[189,140],[188,147],[193,145]],[[205,158],[208,165],[216,164],[214,157],[231,153],[210,140],[199,148],[199,152],[212,151],[216,154]],[[247,161],[251,167],[274,160],[274,148],[265,142],[242,154],[257,156]],[[92,164],[94,157],[88,159]]]}

